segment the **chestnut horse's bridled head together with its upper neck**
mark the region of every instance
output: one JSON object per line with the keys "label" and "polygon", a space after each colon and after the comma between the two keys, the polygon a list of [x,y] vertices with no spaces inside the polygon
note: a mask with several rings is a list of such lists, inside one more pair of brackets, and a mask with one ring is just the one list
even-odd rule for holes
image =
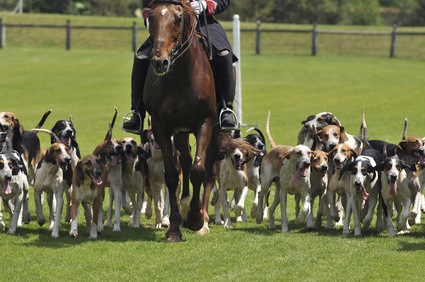
{"label": "chestnut horse's bridled head together with its upper neck", "polygon": [[[166,74],[174,60],[190,45],[194,13],[184,0],[154,0],[149,15],[153,42],[152,67],[156,75]],[[187,27],[193,27],[187,32]]]}

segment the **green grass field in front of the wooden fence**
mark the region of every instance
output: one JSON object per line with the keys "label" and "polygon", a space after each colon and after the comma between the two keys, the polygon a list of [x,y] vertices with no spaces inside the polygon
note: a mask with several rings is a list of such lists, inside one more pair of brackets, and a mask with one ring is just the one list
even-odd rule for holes
{"label": "green grass field in front of the wooden fence", "polygon": [[[46,128],[71,114],[82,154],[91,153],[105,136],[113,108],[119,116],[129,108],[131,64],[130,51],[5,48],[0,111],[14,112],[27,129],[47,109],[53,113]],[[243,122],[264,130],[270,110],[279,144],[294,145],[300,122],[321,111],[333,112],[357,134],[363,107],[371,139],[398,142],[405,117],[408,135],[425,135],[423,61],[243,53],[241,66]],[[119,125],[114,137],[127,136]],[[39,136],[47,147],[48,136]],[[248,208],[251,201],[252,194]],[[289,234],[279,231],[279,221],[278,229],[270,230],[267,220],[257,225],[249,218],[231,230],[211,224],[207,236],[183,229],[179,244],[164,243],[165,230],[155,230],[143,217],[139,230],[127,227],[127,215],[121,233],[105,230],[91,241],[80,220],[77,239],[67,236],[70,226],[64,223],[54,240],[46,226],[37,225],[32,198],[30,204],[31,223],[16,236],[0,234],[0,280],[420,281],[425,274],[424,224],[392,239],[373,228],[361,238],[343,236],[341,229],[307,232],[295,224],[291,200]],[[210,215],[213,219],[212,208]],[[3,216],[8,224],[9,216]]]}

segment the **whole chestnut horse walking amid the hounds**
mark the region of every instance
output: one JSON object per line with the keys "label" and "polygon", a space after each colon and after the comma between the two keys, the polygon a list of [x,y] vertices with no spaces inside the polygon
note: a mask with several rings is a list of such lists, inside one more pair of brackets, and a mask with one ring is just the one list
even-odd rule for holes
{"label": "whole chestnut horse walking amid the hounds", "polygon": [[[197,38],[197,20],[189,4],[182,0],[151,1],[149,23],[153,49],[144,102],[151,115],[155,140],[161,147],[165,183],[170,194],[170,227],[166,239],[179,242],[182,240],[182,217],[187,217],[184,223],[190,230],[202,234],[209,232],[208,200],[214,183],[212,169],[219,133],[214,74]],[[193,164],[190,133],[196,138]],[[173,156],[172,136],[183,170],[182,206],[189,202],[189,178],[193,188],[190,206],[182,208],[182,213],[179,213],[176,196],[179,173]]]}

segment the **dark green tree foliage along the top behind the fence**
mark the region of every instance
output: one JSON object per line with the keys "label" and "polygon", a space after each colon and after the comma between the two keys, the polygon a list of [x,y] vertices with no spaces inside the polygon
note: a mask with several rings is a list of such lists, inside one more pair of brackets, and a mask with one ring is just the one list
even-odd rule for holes
{"label": "dark green tree foliage along the top behind the fence", "polygon": [[[12,10],[17,0],[0,0],[1,10]],[[24,0],[25,12],[134,16],[141,0]],[[242,21],[349,24],[425,25],[425,0],[233,0],[219,15]]]}

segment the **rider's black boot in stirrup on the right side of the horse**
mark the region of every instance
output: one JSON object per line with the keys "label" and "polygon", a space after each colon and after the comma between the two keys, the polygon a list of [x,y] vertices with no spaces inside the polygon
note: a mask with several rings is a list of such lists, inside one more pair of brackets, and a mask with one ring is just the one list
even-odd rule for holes
{"label": "rider's black boot in stirrup on the right side of the horse", "polygon": [[[233,54],[217,56],[217,76],[221,88],[224,105],[220,115],[220,126],[223,130],[239,129],[239,124],[234,120],[233,100],[235,99],[235,80],[233,69]],[[221,103],[220,103],[221,104]]]}

